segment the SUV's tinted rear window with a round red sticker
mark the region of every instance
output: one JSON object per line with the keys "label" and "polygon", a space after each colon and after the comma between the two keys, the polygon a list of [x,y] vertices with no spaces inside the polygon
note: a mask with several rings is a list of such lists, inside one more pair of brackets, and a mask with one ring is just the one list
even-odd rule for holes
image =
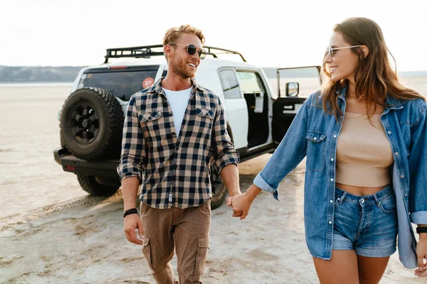
{"label": "SUV's tinted rear window with a round red sticker", "polygon": [[82,75],[77,88],[102,88],[111,92],[115,97],[129,101],[132,94],[154,84],[156,74],[157,70],[87,72]]}

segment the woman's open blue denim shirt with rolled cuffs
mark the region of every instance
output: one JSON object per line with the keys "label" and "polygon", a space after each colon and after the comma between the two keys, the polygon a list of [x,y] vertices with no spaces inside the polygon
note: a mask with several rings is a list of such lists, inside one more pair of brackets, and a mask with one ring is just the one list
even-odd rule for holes
{"label": "woman's open blue denim shirt with rolled cuffs", "polygon": [[[337,91],[338,105],[345,113],[343,88]],[[427,121],[423,99],[401,100],[387,95],[381,123],[394,156],[392,183],[396,192],[399,223],[399,259],[416,268],[416,239],[411,222],[427,224]],[[320,92],[302,104],[283,141],[253,183],[279,200],[278,185],[303,158],[305,172],[305,238],[317,258],[332,257],[334,229],[335,168],[341,116],[322,109]]]}

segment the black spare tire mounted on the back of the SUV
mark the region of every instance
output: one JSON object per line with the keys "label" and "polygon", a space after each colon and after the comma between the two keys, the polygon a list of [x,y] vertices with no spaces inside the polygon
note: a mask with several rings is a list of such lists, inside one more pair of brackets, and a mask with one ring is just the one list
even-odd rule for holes
{"label": "black spare tire mounted on the back of the SUV", "polygon": [[110,92],[78,89],[65,100],[60,136],[68,151],[84,160],[120,157],[124,115]]}

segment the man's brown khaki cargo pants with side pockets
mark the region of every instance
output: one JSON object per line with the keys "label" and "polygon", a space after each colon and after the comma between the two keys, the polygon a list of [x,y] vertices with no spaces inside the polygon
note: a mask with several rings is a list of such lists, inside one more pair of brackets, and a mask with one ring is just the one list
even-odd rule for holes
{"label": "man's brown khaki cargo pants with side pockets", "polygon": [[186,209],[156,209],[141,202],[144,236],[142,246],[157,283],[173,284],[170,261],[176,251],[179,283],[202,283],[209,249],[211,201]]}

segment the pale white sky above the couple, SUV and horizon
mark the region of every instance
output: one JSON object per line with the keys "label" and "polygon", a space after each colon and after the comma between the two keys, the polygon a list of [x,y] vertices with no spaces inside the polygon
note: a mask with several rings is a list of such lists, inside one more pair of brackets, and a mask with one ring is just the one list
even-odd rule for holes
{"label": "pale white sky above the couple, SUV and horizon", "polygon": [[[251,2],[251,3],[249,3]],[[0,65],[98,65],[106,48],[161,44],[189,23],[260,67],[320,65],[335,23],[381,27],[397,70],[427,70],[427,0],[0,0]]]}

